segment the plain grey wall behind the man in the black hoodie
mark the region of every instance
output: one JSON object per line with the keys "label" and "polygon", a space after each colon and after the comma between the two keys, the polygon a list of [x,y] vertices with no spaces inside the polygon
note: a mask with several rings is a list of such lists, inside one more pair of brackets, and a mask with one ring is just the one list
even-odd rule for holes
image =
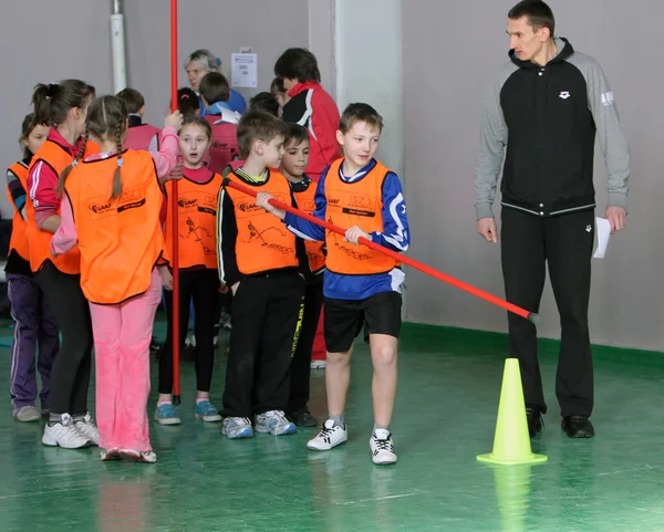
{"label": "plain grey wall behind the man in the black hoodie", "polygon": [[[507,60],[507,11],[516,0],[404,2],[406,199],[413,228],[411,255],[502,296],[500,253],[476,234],[474,164],[481,102]],[[593,261],[593,342],[664,351],[661,283],[664,246],[658,35],[644,21],[662,20],[657,0],[551,0],[557,33],[603,65],[632,149],[627,229]],[[595,185],[603,215],[605,169],[598,149]],[[496,209],[498,213],[498,209]],[[407,316],[417,322],[494,331],[506,317],[456,289],[409,271]],[[540,334],[559,336],[549,286]]]}

